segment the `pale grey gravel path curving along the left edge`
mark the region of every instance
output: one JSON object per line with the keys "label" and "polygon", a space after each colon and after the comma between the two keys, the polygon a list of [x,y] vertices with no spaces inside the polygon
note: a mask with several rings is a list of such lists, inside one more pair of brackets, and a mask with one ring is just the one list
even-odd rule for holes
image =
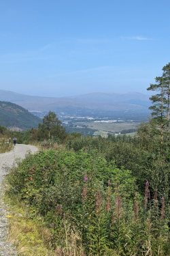
{"label": "pale grey gravel path curving along the left edge", "polygon": [[8,221],[7,205],[3,202],[3,177],[10,171],[14,165],[16,158],[25,158],[27,151],[32,154],[37,152],[37,147],[32,145],[17,144],[11,152],[0,154],[0,256],[13,256],[17,255],[15,248],[9,242],[5,242],[7,237]]}

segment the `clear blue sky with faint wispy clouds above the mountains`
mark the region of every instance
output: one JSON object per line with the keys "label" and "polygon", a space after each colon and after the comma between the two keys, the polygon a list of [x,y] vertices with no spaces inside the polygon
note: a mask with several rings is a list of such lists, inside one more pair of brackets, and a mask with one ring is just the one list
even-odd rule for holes
{"label": "clear blue sky with faint wispy clouds above the mountains", "polygon": [[0,0],[0,89],[139,91],[170,62],[169,0]]}

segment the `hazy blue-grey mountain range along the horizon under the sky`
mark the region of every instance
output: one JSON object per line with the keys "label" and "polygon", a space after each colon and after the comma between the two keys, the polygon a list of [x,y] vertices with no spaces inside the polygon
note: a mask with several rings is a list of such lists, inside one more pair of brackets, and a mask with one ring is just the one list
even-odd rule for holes
{"label": "hazy blue-grey mountain range along the horizon under the sky", "polygon": [[57,114],[90,115],[92,113],[148,114],[149,96],[137,92],[124,94],[92,93],[63,98],[39,97],[0,90],[0,100],[19,104],[29,111],[55,111]]}

